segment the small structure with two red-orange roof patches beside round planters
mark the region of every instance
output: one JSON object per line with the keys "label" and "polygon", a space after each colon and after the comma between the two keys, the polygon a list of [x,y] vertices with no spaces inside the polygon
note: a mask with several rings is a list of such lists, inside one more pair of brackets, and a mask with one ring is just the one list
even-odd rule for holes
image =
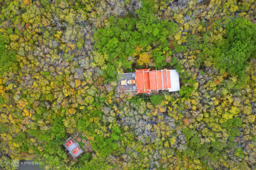
{"label": "small structure with two red-orange roof patches beside round planters", "polygon": [[79,144],[71,137],[69,137],[63,145],[73,158],[77,158],[84,152]]}

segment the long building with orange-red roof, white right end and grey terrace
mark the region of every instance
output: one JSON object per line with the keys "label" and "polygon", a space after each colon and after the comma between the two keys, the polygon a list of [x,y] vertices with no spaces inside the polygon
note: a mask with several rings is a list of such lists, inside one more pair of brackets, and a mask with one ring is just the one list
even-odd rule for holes
{"label": "long building with orange-red roof, white right end and grey terrace", "polygon": [[137,91],[137,94],[152,94],[152,91],[179,91],[180,79],[176,70],[140,69],[134,73],[118,75],[118,90]]}

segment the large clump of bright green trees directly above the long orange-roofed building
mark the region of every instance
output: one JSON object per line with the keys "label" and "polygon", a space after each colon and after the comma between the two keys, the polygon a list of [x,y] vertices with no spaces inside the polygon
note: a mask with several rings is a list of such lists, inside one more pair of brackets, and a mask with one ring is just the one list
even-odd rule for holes
{"label": "large clump of bright green trees directly above the long orange-roofed building", "polygon": [[110,17],[109,26],[98,29],[94,34],[94,48],[101,55],[95,58],[95,62],[101,62],[107,77],[115,78],[116,70],[131,70],[136,58],[139,66],[154,66],[157,69],[166,66],[166,55],[172,54],[169,41],[178,27],[168,20],[157,20],[152,6],[153,3],[144,1],[143,8],[135,12],[137,17],[128,16],[118,21]]}

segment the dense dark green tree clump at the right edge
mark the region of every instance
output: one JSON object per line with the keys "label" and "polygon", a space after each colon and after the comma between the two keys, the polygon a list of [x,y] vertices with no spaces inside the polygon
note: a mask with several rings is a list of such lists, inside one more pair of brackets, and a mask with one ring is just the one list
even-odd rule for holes
{"label": "dense dark green tree clump at the right edge", "polygon": [[226,28],[226,37],[217,43],[214,54],[215,67],[221,74],[227,71],[231,75],[244,75],[247,59],[256,57],[256,26],[244,18],[230,21]]}

